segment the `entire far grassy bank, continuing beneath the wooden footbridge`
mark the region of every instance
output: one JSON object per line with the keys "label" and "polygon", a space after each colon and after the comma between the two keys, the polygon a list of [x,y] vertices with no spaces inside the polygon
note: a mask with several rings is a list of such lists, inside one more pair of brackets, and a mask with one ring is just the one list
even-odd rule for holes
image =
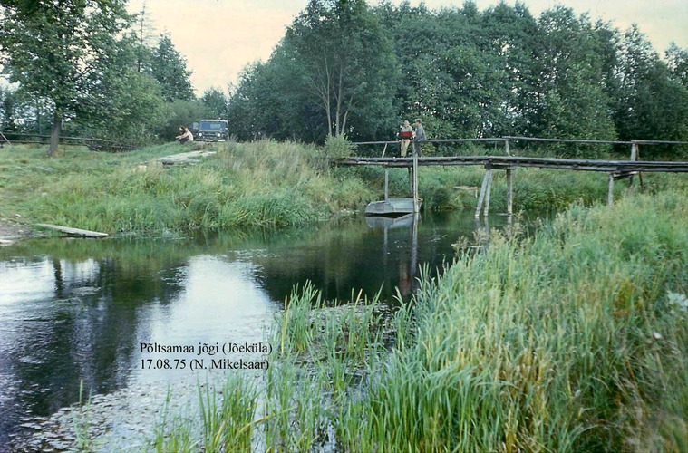
{"label": "entire far grassy bank, continuing beneath the wooden footbridge", "polygon": [[[341,143],[334,143],[341,145]],[[198,144],[196,146],[199,146]],[[178,235],[193,229],[303,225],[361,210],[383,197],[383,170],[331,169],[323,159],[340,149],[263,140],[215,144],[217,154],[189,167],[159,158],[189,151],[176,143],[123,154],[66,148],[44,157],[24,145],[0,149],[0,222],[53,223],[107,233]],[[422,168],[420,195],[428,209],[473,209],[480,168]],[[492,212],[506,208],[504,176],[493,182]],[[405,169],[392,169],[390,195],[408,195]],[[683,175],[646,175],[651,189],[688,185]],[[518,169],[516,209],[560,209],[606,199],[606,175]],[[626,190],[616,183],[615,196]]]}

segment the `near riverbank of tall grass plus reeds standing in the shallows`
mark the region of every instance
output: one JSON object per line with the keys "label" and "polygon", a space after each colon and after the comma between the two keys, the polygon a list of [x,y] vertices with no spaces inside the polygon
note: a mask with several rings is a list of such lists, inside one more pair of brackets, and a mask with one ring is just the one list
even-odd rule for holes
{"label": "near riverbank of tall grass plus reeds standing in the shallows", "polygon": [[375,301],[326,309],[302,289],[264,381],[228,381],[241,410],[216,403],[205,440],[162,425],[155,447],[685,451],[685,225],[684,192],[573,207],[461,249],[387,322]]}

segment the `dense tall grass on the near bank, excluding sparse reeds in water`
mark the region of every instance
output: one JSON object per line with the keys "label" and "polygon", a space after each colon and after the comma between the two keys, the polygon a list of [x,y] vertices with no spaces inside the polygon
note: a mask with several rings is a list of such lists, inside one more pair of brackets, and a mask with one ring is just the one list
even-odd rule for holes
{"label": "dense tall grass on the near bank, excluding sparse reeds in water", "polygon": [[688,388],[688,316],[666,309],[667,294],[688,293],[681,197],[577,207],[532,239],[495,236],[483,254],[424,279],[414,308],[399,314],[398,349],[372,365],[362,400],[343,410],[342,445],[684,445],[676,420]]}

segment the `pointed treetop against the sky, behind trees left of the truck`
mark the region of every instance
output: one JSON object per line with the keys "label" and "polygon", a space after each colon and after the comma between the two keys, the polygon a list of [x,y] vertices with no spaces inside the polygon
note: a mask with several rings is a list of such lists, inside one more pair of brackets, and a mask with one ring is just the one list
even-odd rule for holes
{"label": "pointed treetop against the sky, behind trees left of the truck", "polygon": [[153,49],[150,72],[160,83],[165,101],[193,101],[193,93],[184,57],[175,49],[167,34],[160,34],[158,47]]}

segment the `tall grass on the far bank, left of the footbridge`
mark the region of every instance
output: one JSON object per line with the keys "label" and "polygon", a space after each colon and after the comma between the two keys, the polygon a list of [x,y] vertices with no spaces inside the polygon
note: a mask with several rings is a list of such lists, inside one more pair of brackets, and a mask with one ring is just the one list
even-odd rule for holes
{"label": "tall grass on the far bank, left of the footbridge", "polygon": [[150,160],[163,154],[160,150],[126,157],[82,151],[48,161],[32,157],[27,167],[50,167],[43,178],[34,178],[33,187],[6,186],[16,194],[14,207],[36,222],[151,235],[304,225],[356,210],[372,198],[360,179],[337,178],[313,146],[263,140],[211,149],[218,153],[198,165],[172,168]]}

